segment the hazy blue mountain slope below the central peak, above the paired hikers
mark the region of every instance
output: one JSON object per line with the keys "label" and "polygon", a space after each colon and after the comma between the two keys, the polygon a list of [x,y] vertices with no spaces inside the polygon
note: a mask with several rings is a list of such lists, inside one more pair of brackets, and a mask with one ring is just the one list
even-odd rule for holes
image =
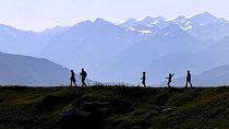
{"label": "hazy blue mountain slope below the central peak, above the paired hikers", "polygon": [[95,74],[95,70],[99,70],[108,59],[141,39],[137,32],[97,19],[95,22],[76,24],[65,33],[56,35],[39,56],[68,68],[85,68]]}

